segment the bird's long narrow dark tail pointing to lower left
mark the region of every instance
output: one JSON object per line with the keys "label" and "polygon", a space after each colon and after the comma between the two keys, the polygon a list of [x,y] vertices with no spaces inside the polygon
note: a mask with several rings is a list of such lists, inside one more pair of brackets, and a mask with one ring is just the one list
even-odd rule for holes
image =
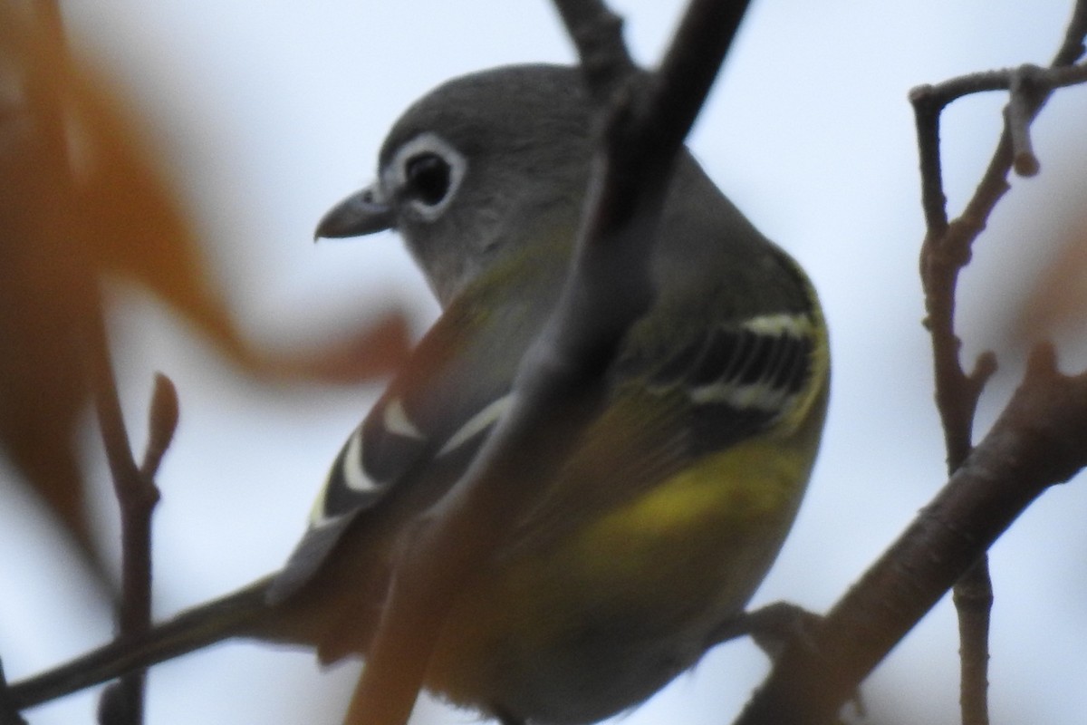
{"label": "bird's long narrow dark tail pointing to lower left", "polygon": [[265,600],[273,579],[274,576],[264,577],[221,599],[182,612],[145,634],[116,639],[71,662],[13,683],[8,688],[10,701],[23,710],[245,635],[254,620],[268,611]]}

